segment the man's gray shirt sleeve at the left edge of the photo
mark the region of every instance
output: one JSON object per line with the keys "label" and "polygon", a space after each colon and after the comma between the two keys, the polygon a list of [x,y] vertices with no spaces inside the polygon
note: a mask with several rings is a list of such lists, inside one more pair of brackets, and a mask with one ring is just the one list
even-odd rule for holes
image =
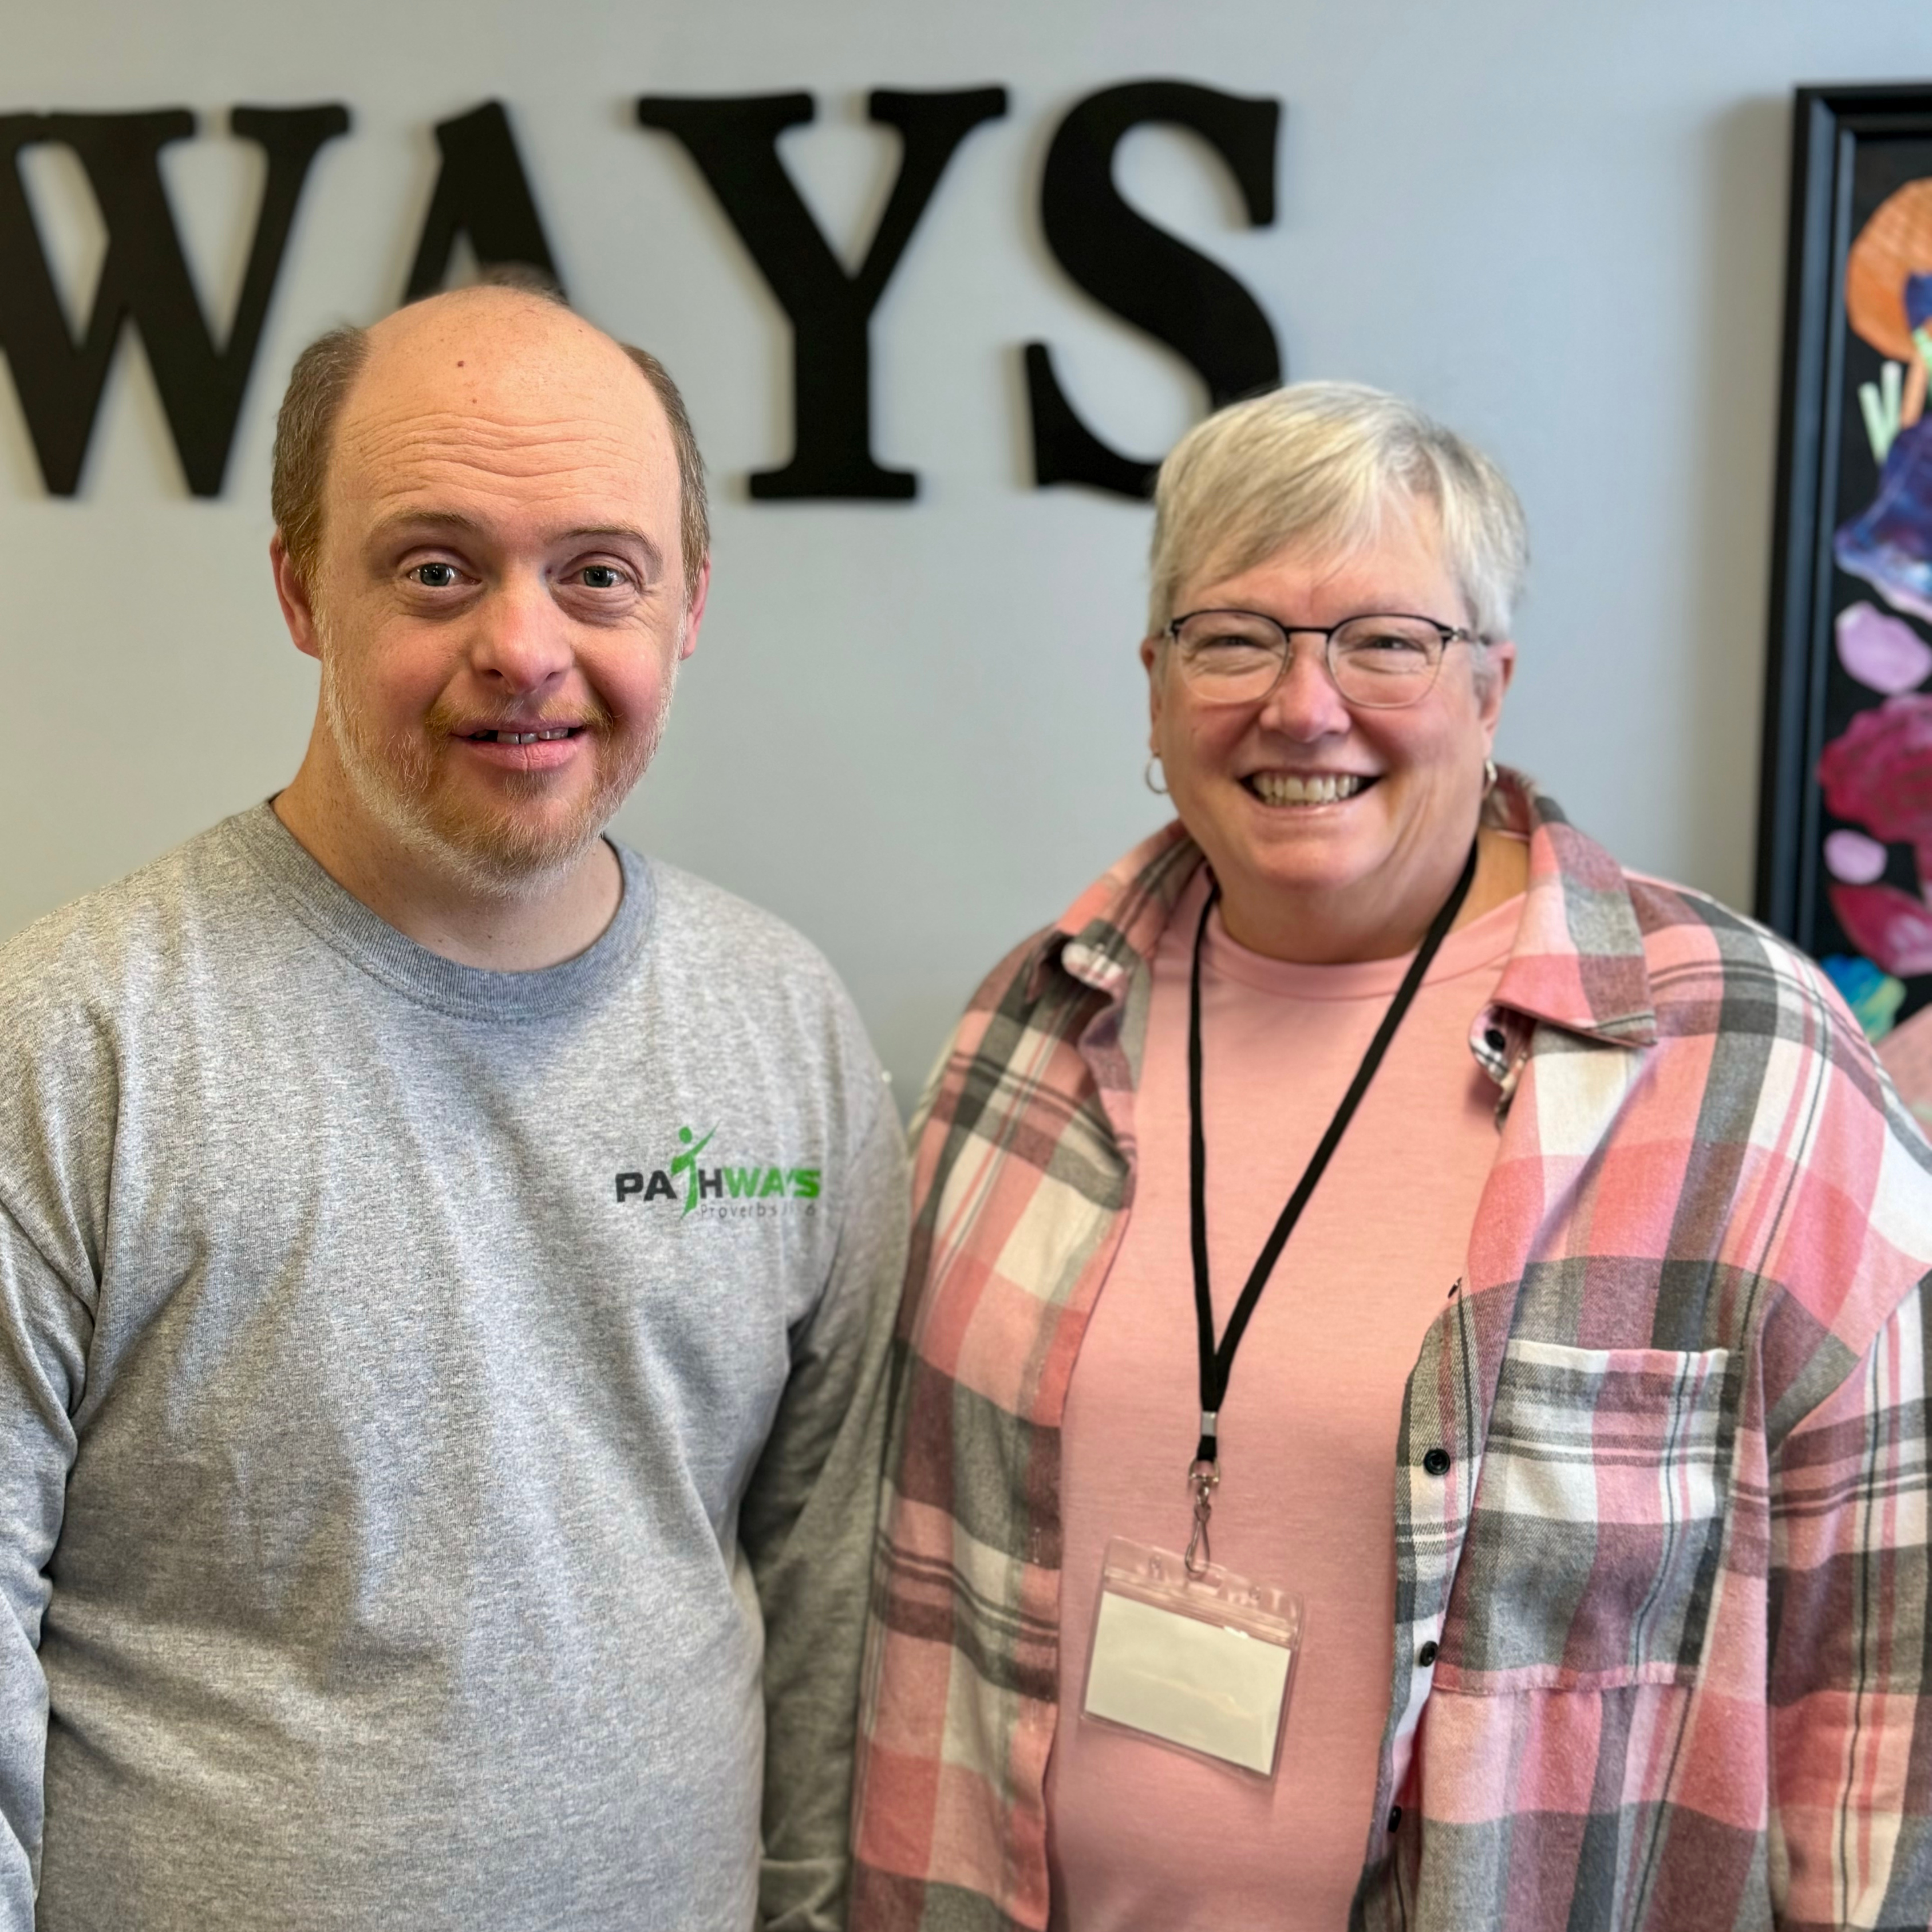
{"label": "man's gray shirt sleeve at the left edge of the photo", "polygon": [[33,1932],[46,1772],[41,1617],[93,1314],[0,1206],[0,1932]]}

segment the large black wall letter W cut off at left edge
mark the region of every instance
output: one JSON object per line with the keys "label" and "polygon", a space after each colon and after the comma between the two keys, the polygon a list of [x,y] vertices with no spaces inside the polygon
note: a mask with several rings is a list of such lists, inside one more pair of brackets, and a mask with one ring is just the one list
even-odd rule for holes
{"label": "large black wall letter W cut off at left edge", "polygon": [[[267,151],[269,184],[234,327],[226,346],[216,348],[158,166],[170,141],[195,131],[195,116],[185,108],[0,116],[0,350],[54,497],[71,497],[79,487],[114,344],[129,317],[141,328],[187,487],[197,497],[220,495],[296,203],[317,149],[346,133],[350,116],[342,106],[236,108],[228,126]],[[79,342],[62,315],[19,180],[19,151],[35,141],[60,141],[79,155],[108,230],[93,313]]]}

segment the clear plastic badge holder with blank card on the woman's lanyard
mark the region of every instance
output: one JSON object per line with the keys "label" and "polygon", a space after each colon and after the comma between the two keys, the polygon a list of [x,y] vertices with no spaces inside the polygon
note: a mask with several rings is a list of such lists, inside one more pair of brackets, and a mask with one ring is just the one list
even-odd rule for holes
{"label": "clear plastic badge holder with blank card on the woman's lanyard", "polygon": [[1302,1600],[1235,1577],[1198,1575],[1171,1549],[1107,1544],[1082,1716],[1190,1756],[1271,1779],[1281,1760]]}

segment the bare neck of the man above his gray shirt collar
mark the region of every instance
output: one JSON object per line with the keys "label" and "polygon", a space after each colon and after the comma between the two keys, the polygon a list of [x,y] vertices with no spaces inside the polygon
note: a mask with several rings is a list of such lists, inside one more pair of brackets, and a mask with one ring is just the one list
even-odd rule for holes
{"label": "bare neck of the man above his gray shirt collar", "polygon": [[624,867],[605,838],[533,893],[477,891],[371,823],[348,781],[313,757],[272,808],[336,885],[398,933],[458,966],[491,972],[558,966],[597,941],[624,898]]}

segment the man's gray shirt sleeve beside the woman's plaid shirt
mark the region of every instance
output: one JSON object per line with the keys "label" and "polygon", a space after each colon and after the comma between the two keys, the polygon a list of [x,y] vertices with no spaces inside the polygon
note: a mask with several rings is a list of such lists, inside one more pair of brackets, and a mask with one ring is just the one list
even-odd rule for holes
{"label": "man's gray shirt sleeve beside the woman's plaid shirt", "polygon": [[881,1092],[831,1275],[740,1511],[765,1615],[769,1932],[844,1926],[860,1654],[885,1441],[885,1362],[906,1265],[906,1144]]}

